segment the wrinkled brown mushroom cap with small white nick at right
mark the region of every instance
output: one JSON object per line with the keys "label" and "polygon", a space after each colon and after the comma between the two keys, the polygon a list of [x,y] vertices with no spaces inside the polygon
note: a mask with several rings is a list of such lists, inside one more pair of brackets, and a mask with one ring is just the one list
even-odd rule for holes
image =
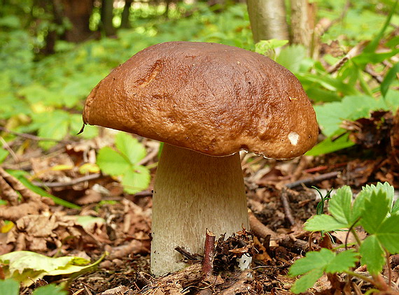
{"label": "wrinkled brown mushroom cap with small white nick at right", "polygon": [[288,159],[304,154],[318,135],[314,109],[293,73],[216,43],[141,50],[92,90],[83,122],[212,156],[248,150]]}

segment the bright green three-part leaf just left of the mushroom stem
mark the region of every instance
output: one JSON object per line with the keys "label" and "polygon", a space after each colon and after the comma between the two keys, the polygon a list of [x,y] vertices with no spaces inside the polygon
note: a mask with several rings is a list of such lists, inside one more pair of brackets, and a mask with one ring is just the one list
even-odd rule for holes
{"label": "bright green three-part leaf just left of the mushroom stem", "polygon": [[116,135],[116,149],[103,147],[97,155],[97,165],[102,172],[120,176],[125,192],[136,194],[150,184],[150,171],[139,161],[146,157],[146,149],[137,138],[120,132]]}

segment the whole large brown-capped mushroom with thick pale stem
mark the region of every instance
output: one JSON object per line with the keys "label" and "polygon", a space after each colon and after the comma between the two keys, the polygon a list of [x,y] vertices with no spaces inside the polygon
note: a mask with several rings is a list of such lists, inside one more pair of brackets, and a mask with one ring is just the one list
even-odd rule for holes
{"label": "whole large brown-capped mushroom with thick pale stem", "polygon": [[155,175],[151,272],[183,268],[174,250],[202,253],[249,229],[239,151],[300,156],[315,143],[314,109],[295,76],[271,59],[216,43],[152,45],[92,90],[85,124],[165,143]]}

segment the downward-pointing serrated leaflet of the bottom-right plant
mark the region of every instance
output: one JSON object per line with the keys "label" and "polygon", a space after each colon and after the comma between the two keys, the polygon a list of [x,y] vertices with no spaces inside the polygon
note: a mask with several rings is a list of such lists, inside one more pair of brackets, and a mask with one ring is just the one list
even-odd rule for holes
{"label": "downward-pointing serrated leaflet of the bottom-right plant", "polygon": [[376,236],[372,235],[365,238],[360,245],[359,252],[361,254],[360,263],[366,265],[371,274],[382,271],[382,266],[385,264],[384,250]]}

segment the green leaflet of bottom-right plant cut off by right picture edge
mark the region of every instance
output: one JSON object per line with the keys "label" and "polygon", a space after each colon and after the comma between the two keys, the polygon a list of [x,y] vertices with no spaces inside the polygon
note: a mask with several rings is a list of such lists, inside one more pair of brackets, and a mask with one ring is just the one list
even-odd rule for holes
{"label": "green leaflet of bottom-right plant cut off by right picture edge", "polygon": [[379,243],[391,254],[399,253],[399,215],[391,215],[379,226],[376,236]]}

